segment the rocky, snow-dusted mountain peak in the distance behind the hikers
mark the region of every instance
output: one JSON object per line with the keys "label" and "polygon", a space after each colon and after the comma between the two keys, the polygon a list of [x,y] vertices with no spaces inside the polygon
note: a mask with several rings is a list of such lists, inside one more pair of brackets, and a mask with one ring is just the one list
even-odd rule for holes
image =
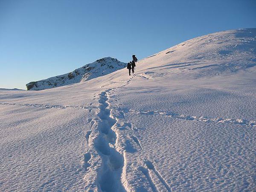
{"label": "rocky, snow-dusted mountain peak in the distance behind the hikers", "polygon": [[105,57],[86,64],[70,73],[26,84],[27,90],[44,90],[64,86],[107,75],[126,66],[116,58]]}

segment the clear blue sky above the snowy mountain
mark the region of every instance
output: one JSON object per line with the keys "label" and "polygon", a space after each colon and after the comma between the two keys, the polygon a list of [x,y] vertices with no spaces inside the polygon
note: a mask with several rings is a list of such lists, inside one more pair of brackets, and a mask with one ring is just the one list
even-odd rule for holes
{"label": "clear blue sky above the snowy mountain", "polygon": [[0,0],[0,88],[256,27],[256,0]]}

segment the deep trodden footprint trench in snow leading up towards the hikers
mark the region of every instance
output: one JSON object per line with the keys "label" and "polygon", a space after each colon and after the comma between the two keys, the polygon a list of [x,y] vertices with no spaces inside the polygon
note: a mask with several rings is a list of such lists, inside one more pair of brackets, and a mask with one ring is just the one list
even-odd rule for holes
{"label": "deep trodden footprint trench in snow leading up towards the hikers", "polygon": [[95,140],[95,148],[102,158],[102,165],[98,172],[99,188],[105,192],[125,192],[121,183],[122,167],[124,157],[116,148],[116,133],[112,128],[116,124],[116,119],[111,117],[108,109],[108,95],[106,92],[100,94],[99,99],[99,136]]}

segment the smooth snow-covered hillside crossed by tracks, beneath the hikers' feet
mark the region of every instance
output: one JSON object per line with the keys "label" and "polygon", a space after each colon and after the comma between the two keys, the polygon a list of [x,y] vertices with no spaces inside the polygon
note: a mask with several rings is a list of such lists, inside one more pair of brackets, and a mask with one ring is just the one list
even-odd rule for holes
{"label": "smooth snow-covered hillside crossed by tracks, beneath the hikers' feet", "polygon": [[0,191],[256,189],[256,29],[194,38],[127,69],[0,92]]}

